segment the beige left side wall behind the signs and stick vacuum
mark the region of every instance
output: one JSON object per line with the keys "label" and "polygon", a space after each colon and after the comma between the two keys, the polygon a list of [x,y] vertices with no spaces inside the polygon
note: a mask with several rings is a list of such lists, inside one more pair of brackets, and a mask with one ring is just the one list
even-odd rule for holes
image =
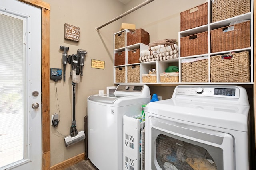
{"label": "beige left side wall behind the signs and stick vacuum", "polygon": [[[116,0],[44,0],[50,4],[50,68],[63,68],[60,45],[69,47],[68,55],[77,49],[87,50],[84,76],[76,86],[76,124],[78,131],[84,130],[84,116],[87,97],[98,94],[106,86],[113,86],[113,34],[120,29],[120,19],[100,29],[95,27],[106,23],[124,12],[124,4]],[[80,41],[64,40],[64,24],[80,27]],[[91,59],[105,61],[105,69],[91,68]],[[51,166],[84,152],[84,143],[79,142],[68,148],[64,136],[69,135],[72,121],[72,84],[70,64],[66,66],[66,82],[50,80],[50,115],[58,113],[60,123],[50,127]],[[58,101],[56,98],[58,92]],[[58,132],[57,132],[58,131]]]}

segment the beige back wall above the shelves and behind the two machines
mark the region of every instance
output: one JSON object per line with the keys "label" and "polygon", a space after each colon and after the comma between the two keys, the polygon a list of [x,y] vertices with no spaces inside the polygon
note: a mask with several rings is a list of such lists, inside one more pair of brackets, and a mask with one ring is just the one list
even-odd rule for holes
{"label": "beige back wall above the shelves and behind the two machines", "polygon": [[[134,8],[145,0],[131,0],[125,11]],[[124,17],[124,22],[134,23],[136,29],[142,28],[149,33],[150,42],[172,38],[178,42],[180,31],[180,12],[203,4],[205,0],[154,0]],[[150,94],[158,94],[162,99],[171,98],[174,87],[151,86]]]}

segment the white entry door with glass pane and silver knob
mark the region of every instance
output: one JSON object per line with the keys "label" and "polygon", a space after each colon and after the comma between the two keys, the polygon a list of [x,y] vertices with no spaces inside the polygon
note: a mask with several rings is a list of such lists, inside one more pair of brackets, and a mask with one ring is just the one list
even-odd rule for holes
{"label": "white entry door with glass pane and silver knob", "polygon": [[0,0],[0,27],[0,170],[40,170],[41,9]]}

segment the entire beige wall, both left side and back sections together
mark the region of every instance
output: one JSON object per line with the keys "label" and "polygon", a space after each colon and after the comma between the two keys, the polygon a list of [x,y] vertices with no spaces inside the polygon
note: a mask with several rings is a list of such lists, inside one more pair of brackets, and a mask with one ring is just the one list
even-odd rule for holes
{"label": "entire beige wall, both left side and back sections together", "polygon": [[[50,68],[62,68],[60,45],[69,47],[68,55],[77,49],[87,50],[84,76],[76,86],[76,124],[78,131],[84,130],[84,116],[87,97],[98,94],[106,86],[113,86],[113,34],[120,29],[120,23],[134,23],[150,33],[150,41],[164,38],[178,39],[180,12],[202,4],[204,0],[188,0],[176,3],[170,0],[155,0],[150,4],[128,14],[99,32],[98,27],[116,16],[130,10],[144,0],[132,0],[124,5],[118,0],[44,0],[50,4]],[[60,3],[61,2],[61,3]],[[64,24],[80,27],[80,41],[65,40]],[[91,68],[91,59],[105,61],[105,69]],[[72,85],[69,76],[70,64],[66,66],[66,82],[50,81],[50,114],[58,113],[60,123],[57,128],[50,126],[51,166],[84,152],[84,143],[79,142],[65,147],[64,137],[69,135],[72,121]],[[173,87],[151,87],[151,94],[158,93],[162,99],[170,98]],[[58,94],[58,101],[57,101]],[[59,105],[59,106],[58,106]]]}

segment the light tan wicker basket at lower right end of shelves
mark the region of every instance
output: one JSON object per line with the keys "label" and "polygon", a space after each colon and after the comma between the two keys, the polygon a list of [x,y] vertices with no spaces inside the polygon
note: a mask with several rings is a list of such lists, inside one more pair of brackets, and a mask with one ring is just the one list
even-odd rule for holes
{"label": "light tan wicker basket at lower right end of shelves", "polygon": [[211,82],[250,82],[249,52],[210,57]]}

